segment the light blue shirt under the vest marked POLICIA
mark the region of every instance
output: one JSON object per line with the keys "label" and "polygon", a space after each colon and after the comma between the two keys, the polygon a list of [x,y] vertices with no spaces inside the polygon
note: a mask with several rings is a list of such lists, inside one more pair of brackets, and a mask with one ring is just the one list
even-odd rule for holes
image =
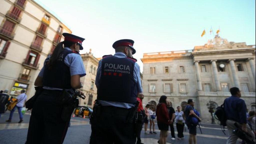
{"label": "light blue shirt under the vest marked POLICIA", "polygon": [[[122,52],[117,52],[114,54],[114,56],[118,57],[118,58],[126,57],[126,55]],[[95,85],[97,86],[97,88],[100,83],[100,77],[101,77],[101,63],[102,63],[102,59],[99,61],[99,66],[97,69],[97,75],[96,75],[96,79],[95,79]],[[135,82],[137,83],[137,90],[138,90],[138,92],[141,93],[142,87],[141,87],[141,77],[140,77],[140,66],[137,63],[135,63],[135,65],[134,65],[133,77],[134,77]],[[134,107],[134,104],[128,104],[128,103],[124,103],[124,102],[99,100],[99,103],[102,106],[114,106],[114,107],[127,108],[127,109]]]}

